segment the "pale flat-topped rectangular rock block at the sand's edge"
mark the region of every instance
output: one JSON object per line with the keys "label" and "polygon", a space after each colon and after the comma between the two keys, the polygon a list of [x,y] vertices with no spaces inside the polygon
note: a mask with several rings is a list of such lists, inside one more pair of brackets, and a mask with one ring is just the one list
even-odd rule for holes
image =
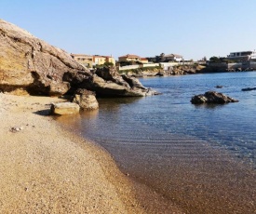
{"label": "pale flat-topped rectangular rock block at the sand's edge", "polygon": [[52,103],[50,107],[51,114],[57,115],[77,114],[79,110],[79,105],[73,102]]}

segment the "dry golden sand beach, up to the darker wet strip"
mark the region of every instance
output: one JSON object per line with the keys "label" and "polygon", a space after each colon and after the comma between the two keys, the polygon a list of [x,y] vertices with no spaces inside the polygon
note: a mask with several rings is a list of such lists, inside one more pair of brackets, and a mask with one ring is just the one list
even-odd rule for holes
{"label": "dry golden sand beach, up to the darker wet strip", "polygon": [[57,100],[0,94],[0,213],[144,213],[109,154],[40,115]]}

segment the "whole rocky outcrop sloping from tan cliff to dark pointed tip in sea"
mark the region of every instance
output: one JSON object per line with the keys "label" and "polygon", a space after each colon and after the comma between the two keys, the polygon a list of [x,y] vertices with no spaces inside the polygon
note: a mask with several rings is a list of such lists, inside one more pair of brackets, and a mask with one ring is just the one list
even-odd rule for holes
{"label": "whole rocky outcrop sloping from tan cliff to dark pointed tip in sea", "polygon": [[156,94],[115,69],[103,68],[92,74],[64,50],[0,20],[0,91],[60,96],[77,88],[102,96]]}

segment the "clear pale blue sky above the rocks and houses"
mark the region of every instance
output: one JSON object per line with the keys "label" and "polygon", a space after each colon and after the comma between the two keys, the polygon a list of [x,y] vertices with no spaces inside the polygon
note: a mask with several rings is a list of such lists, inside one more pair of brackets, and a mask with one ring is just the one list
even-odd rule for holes
{"label": "clear pale blue sky above the rocks and houses", "polygon": [[254,50],[255,13],[255,0],[0,0],[0,19],[50,45],[116,60]]}

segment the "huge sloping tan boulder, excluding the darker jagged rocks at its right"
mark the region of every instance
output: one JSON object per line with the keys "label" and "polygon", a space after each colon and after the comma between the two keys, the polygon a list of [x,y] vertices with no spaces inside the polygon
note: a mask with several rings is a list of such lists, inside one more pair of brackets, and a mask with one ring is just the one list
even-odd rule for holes
{"label": "huge sloping tan boulder, excluding the darker jagged rocks at its right", "polygon": [[66,72],[88,70],[64,50],[0,20],[0,90],[18,95],[62,95],[70,88],[62,81]]}

